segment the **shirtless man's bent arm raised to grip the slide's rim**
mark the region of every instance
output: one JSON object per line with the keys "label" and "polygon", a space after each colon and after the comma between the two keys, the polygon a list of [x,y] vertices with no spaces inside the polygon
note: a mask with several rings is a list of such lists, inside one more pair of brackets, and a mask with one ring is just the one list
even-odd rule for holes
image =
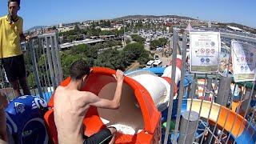
{"label": "shirtless man's bent arm raised to grip the slide's rim", "polygon": [[121,95],[122,95],[122,83],[123,83],[123,72],[118,70],[116,75],[113,75],[114,78],[117,80],[117,87],[114,93],[114,98],[112,100],[98,98],[97,95],[93,93],[89,93],[90,98],[90,106],[96,106],[100,108],[106,109],[118,109],[120,106]]}

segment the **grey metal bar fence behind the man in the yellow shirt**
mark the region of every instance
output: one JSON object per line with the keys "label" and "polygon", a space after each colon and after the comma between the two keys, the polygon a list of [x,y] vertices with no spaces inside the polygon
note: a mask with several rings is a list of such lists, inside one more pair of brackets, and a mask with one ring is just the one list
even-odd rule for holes
{"label": "grey metal bar fence behind the man in the yellow shirt", "polygon": [[[62,66],[59,58],[59,46],[56,33],[42,34],[26,42],[24,51],[27,80],[30,92],[48,100],[53,90],[62,82]],[[9,100],[14,99],[14,91],[1,66],[1,91]]]}

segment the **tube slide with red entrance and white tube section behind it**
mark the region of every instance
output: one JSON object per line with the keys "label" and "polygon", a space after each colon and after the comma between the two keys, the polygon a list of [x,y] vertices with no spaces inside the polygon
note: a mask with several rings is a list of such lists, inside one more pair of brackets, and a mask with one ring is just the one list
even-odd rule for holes
{"label": "tube slide with red entrance and white tube section behind it", "polygon": [[[112,74],[115,74],[115,70],[102,67],[93,69],[82,90],[98,94],[100,98],[113,98],[116,82]],[[104,126],[115,126],[118,130],[116,143],[158,143],[162,128],[159,110],[167,108],[171,66],[165,71],[162,77],[145,70],[126,74],[120,108],[106,110],[90,107],[83,121],[85,134],[90,136]],[[180,80],[180,68],[177,67],[177,71],[175,83]],[[69,82],[70,78],[66,78],[61,85],[66,86]],[[54,96],[48,106],[54,107]],[[51,141],[58,142],[53,110],[46,113],[45,120]]]}

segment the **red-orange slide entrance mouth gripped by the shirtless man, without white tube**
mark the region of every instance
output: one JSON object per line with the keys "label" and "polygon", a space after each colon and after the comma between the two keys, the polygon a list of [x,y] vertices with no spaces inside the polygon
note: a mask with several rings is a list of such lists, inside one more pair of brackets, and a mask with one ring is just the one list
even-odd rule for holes
{"label": "red-orange slide entrance mouth gripped by the shirtless man, without white tube", "polygon": [[[115,70],[94,67],[88,78],[88,85],[83,90],[98,94],[100,98],[113,98],[116,81],[112,74]],[[66,86],[70,78],[62,82]],[[54,98],[48,106],[54,107]],[[51,141],[58,142],[57,131],[54,127],[53,110],[45,115],[46,125],[49,126]],[[122,101],[118,110],[106,110],[90,107],[83,121],[86,126],[85,134],[90,136],[105,126],[116,126],[118,136],[116,143],[158,143],[161,136],[161,114],[154,106],[150,93],[134,79],[124,78]]]}

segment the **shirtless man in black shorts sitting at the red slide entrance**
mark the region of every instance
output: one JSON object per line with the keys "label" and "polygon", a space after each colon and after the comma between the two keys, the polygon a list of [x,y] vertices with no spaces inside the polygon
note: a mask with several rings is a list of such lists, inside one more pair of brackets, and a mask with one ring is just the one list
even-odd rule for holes
{"label": "shirtless man in black shorts sitting at the red slide entrance", "polygon": [[[118,109],[120,106],[123,72],[117,70],[113,77],[117,80],[117,87],[112,100],[98,98],[97,95],[80,91],[85,86],[92,70],[82,60],[74,62],[70,67],[70,83],[58,86],[54,94],[54,121],[58,130],[58,143],[100,143],[107,139],[107,143],[114,143],[116,129],[109,127],[100,130],[89,138],[84,138],[82,121],[90,106],[106,109]],[[106,143],[106,142],[104,142]]]}

